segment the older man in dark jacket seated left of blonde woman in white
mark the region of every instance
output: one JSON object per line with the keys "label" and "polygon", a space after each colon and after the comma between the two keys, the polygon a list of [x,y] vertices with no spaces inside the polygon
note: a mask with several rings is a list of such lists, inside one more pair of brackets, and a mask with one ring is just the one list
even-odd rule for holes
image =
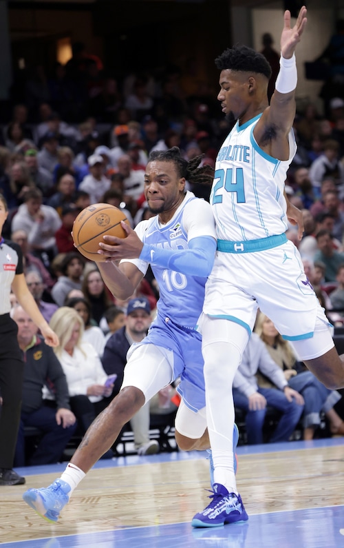
{"label": "older man in dark jacket seated left of blonde woman in white", "polygon": [[[67,381],[54,351],[37,334],[37,327],[21,306],[12,309],[18,326],[18,343],[25,362],[21,422],[14,455],[14,466],[57,463],[76,429],[76,417],[69,407]],[[53,394],[45,399],[43,391]],[[32,455],[26,460],[26,426],[42,433]]]}

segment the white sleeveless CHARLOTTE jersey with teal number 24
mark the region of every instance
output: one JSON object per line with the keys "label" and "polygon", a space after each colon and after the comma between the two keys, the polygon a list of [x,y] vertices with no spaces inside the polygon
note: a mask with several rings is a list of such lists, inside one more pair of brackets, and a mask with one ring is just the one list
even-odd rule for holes
{"label": "white sleeveless CHARLOTTE jersey with teal number 24", "polygon": [[217,154],[210,199],[217,239],[255,240],[288,228],[283,190],[297,145],[291,130],[288,160],[266,154],[253,136],[260,116],[241,126],[237,122]]}

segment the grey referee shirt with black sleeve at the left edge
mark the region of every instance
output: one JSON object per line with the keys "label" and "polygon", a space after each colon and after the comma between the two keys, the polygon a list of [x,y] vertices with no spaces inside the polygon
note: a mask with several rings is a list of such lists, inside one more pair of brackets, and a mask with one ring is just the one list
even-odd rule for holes
{"label": "grey referee shirt with black sleeve at the left edge", "polygon": [[11,285],[16,274],[23,274],[21,247],[0,238],[0,315],[10,312]]}

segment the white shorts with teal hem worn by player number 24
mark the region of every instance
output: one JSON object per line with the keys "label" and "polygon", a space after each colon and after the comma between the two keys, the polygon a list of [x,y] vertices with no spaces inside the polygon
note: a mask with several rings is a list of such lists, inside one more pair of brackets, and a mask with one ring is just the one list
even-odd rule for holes
{"label": "white shorts with teal hem worn by player number 24", "polygon": [[[310,339],[314,350],[314,332],[321,331],[325,336],[321,346],[333,347],[330,324],[292,242],[250,253],[217,252],[206,283],[204,314],[238,323],[250,334],[258,307],[291,343]],[[299,343],[295,347],[300,354]],[[325,352],[316,349],[318,356]]]}

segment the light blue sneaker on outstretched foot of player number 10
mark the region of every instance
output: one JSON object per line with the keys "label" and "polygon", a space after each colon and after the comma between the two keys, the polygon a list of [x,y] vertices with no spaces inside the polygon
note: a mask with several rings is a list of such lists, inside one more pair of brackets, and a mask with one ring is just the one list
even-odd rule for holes
{"label": "light blue sneaker on outstretched foot of player number 10", "polygon": [[41,518],[50,522],[56,522],[61,510],[69,501],[69,496],[67,495],[69,491],[70,485],[58,479],[49,487],[28,489],[23,494],[23,499]]}

